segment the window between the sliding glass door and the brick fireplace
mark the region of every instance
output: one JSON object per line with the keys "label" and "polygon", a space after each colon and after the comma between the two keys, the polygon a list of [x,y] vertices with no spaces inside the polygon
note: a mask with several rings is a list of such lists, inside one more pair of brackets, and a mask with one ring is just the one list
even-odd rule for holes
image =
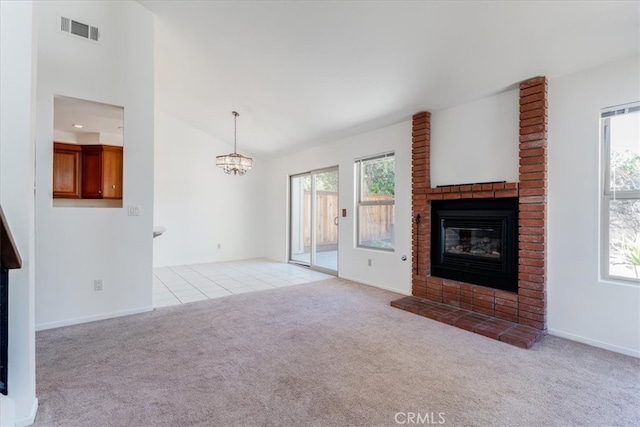
{"label": "window between the sliding glass door and the brick fireplace", "polygon": [[393,153],[356,160],[358,246],[393,251],[395,158]]}

